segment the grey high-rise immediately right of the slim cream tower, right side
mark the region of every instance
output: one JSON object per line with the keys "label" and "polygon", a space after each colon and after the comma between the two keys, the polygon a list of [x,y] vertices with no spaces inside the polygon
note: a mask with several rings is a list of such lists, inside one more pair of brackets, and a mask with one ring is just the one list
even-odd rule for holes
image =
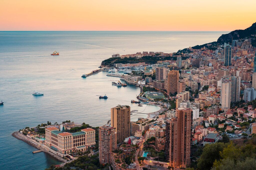
{"label": "grey high-rise immediately right of the slim cream tower, right side", "polygon": [[240,101],[240,85],[241,85],[241,77],[239,76],[231,76],[229,78],[231,81],[231,102],[235,103]]}

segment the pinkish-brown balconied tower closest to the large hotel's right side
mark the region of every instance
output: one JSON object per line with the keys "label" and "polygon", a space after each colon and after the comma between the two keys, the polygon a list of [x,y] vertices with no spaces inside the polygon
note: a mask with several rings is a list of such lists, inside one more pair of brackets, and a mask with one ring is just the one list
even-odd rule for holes
{"label": "pinkish-brown balconied tower closest to the large hotel's right side", "polygon": [[116,132],[111,126],[99,127],[99,159],[100,164],[111,163],[111,152],[116,150]]}

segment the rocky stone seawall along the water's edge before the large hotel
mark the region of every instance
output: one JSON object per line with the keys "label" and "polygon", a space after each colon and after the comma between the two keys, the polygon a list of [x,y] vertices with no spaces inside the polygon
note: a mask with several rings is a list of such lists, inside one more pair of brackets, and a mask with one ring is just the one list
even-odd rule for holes
{"label": "rocky stone seawall along the water's edge before the large hotel", "polygon": [[31,145],[31,146],[39,149],[39,150],[42,150],[45,153],[48,153],[49,155],[51,155],[52,157],[54,157],[55,159],[57,159],[61,162],[67,162],[66,159],[63,159],[61,156],[56,155],[55,153],[52,153],[52,152],[48,151],[45,147],[41,146],[39,143],[33,141],[32,139],[29,139],[28,137],[20,134],[19,132],[14,132],[12,134],[12,136],[19,139],[19,140],[22,140],[22,141],[28,143],[29,145]]}

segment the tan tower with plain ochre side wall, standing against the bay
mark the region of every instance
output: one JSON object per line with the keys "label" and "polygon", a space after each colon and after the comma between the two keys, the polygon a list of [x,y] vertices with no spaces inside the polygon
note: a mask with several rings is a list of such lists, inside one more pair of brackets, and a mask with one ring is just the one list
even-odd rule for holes
{"label": "tan tower with plain ochre side wall, standing against the bay", "polygon": [[111,108],[111,126],[116,130],[118,142],[130,136],[131,119],[130,119],[130,106],[116,106]]}

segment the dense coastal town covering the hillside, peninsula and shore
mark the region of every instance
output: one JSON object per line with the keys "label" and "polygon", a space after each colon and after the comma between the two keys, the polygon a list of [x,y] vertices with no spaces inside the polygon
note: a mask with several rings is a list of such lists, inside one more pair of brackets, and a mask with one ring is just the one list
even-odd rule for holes
{"label": "dense coastal town covering the hillside, peninsula and shore", "polygon": [[132,103],[158,111],[131,121],[136,111],[118,105],[100,127],[47,122],[13,136],[63,162],[48,170],[254,169],[255,40],[224,35],[177,53],[113,54],[82,77],[107,70],[124,82],[113,85],[141,89]]}

